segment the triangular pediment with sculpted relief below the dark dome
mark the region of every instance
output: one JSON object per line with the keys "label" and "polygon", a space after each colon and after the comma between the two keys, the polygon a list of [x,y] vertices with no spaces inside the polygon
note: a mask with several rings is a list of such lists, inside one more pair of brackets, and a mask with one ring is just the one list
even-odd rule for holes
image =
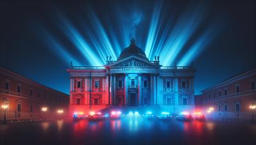
{"label": "triangular pediment with sculpted relief below the dark dome", "polygon": [[157,64],[149,62],[148,60],[141,59],[140,57],[131,56],[125,59],[119,60],[109,67],[157,67]]}

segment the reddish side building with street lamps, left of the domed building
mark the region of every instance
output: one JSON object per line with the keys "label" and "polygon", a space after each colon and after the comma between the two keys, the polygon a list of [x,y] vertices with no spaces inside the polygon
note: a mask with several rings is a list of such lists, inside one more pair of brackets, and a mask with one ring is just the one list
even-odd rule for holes
{"label": "reddish side building with street lamps, left of the domed building", "polygon": [[[8,121],[50,118],[56,116],[58,109],[68,113],[68,102],[68,94],[0,67],[0,106],[8,106]],[[43,112],[42,107],[47,110]],[[4,109],[1,107],[0,110],[0,120],[3,121]]]}

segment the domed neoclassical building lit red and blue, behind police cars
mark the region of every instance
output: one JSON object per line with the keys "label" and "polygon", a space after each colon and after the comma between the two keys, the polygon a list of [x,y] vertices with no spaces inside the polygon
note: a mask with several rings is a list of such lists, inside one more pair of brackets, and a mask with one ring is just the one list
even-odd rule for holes
{"label": "domed neoclassical building lit red and blue, behind police cars", "polygon": [[160,106],[171,112],[193,110],[194,73],[191,66],[161,66],[148,60],[134,39],[117,60],[104,66],[71,66],[70,113],[108,106]]}

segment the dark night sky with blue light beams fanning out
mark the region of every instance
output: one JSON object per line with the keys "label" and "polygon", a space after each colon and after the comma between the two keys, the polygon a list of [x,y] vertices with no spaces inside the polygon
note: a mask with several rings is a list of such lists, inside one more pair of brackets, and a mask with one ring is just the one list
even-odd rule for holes
{"label": "dark night sky with blue light beams fanning out", "polygon": [[0,66],[61,92],[66,69],[104,64],[134,37],[164,66],[191,61],[195,91],[256,67],[255,1],[0,2]]}

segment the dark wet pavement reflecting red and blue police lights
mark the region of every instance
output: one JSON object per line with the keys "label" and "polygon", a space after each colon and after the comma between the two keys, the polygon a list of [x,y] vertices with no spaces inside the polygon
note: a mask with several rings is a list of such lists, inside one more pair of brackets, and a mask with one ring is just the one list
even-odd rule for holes
{"label": "dark wet pavement reflecting red and blue police lights", "polygon": [[256,125],[235,122],[58,120],[0,125],[0,144],[256,144]]}

